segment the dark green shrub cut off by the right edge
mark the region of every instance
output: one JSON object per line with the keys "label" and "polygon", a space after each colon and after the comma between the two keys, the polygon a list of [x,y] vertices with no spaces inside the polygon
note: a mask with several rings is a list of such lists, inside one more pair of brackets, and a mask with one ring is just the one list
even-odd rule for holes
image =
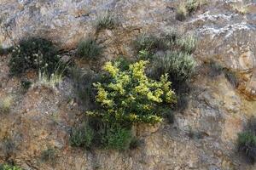
{"label": "dark green shrub cut off by the right edge", "polygon": [[245,132],[238,133],[238,149],[251,163],[256,161],[256,119],[252,118]]}

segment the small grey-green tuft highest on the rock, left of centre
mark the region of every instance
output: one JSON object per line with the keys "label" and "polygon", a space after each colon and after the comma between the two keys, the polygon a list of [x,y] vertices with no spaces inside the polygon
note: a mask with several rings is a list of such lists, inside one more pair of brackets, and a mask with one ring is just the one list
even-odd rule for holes
{"label": "small grey-green tuft highest on the rock, left of centre", "polygon": [[100,31],[102,29],[112,30],[115,26],[117,26],[117,21],[115,17],[108,12],[102,14],[102,16],[96,20],[96,31]]}

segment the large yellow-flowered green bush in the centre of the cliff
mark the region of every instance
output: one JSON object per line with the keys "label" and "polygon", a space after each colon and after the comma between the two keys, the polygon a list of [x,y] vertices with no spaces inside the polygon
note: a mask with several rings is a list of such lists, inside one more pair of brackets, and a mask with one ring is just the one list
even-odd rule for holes
{"label": "large yellow-flowered green bush in the centre of the cliff", "polygon": [[128,70],[120,71],[118,62],[107,62],[104,70],[110,82],[94,84],[96,101],[102,105],[102,111],[88,111],[87,114],[102,117],[104,122],[120,124],[161,122],[158,106],[175,103],[175,94],[167,75],[161,76],[160,82],[145,75],[147,63],[141,60],[131,64]]}

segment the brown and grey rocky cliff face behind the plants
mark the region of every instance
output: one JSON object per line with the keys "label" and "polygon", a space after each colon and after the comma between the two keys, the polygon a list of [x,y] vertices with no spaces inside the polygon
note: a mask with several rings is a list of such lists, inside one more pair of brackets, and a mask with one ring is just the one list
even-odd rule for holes
{"label": "brown and grey rocky cliff face behind the plants", "polygon": [[[143,144],[125,153],[71,148],[68,133],[82,114],[73,102],[71,82],[66,79],[55,93],[33,87],[22,94],[20,79],[9,78],[9,56],[1,57],[0,96],[12,95],[14,104],[8,115],[0,115],[0,162],[8,159],[25,169],[60,170],[255,169],[237,153],[236,138],[249,116],[256,116],[256,2],[247,1],[247,14],[234,10],[234,2],[212,0],[177,21],[179,1],[174,0],[2,0],[3,47],[22,37],[39,36],[68,51],[81,37],[94,34],[106,47],[104,59],[111,59],[132,56],[131,42],[141,32],[192,32],[199,42],[189,107],[177,113],[172,125],[138,127]],[[95,20],[106,10],[116,14],[120,24],[96,34]],[[235,72],[237,85],[232,86],[224,73],[212,77],[204,64],[210,60]],[[12,141],[10,147],[3,142],[6,137]],[[58,149],[54,165],[38,161],[49,145]]]}

